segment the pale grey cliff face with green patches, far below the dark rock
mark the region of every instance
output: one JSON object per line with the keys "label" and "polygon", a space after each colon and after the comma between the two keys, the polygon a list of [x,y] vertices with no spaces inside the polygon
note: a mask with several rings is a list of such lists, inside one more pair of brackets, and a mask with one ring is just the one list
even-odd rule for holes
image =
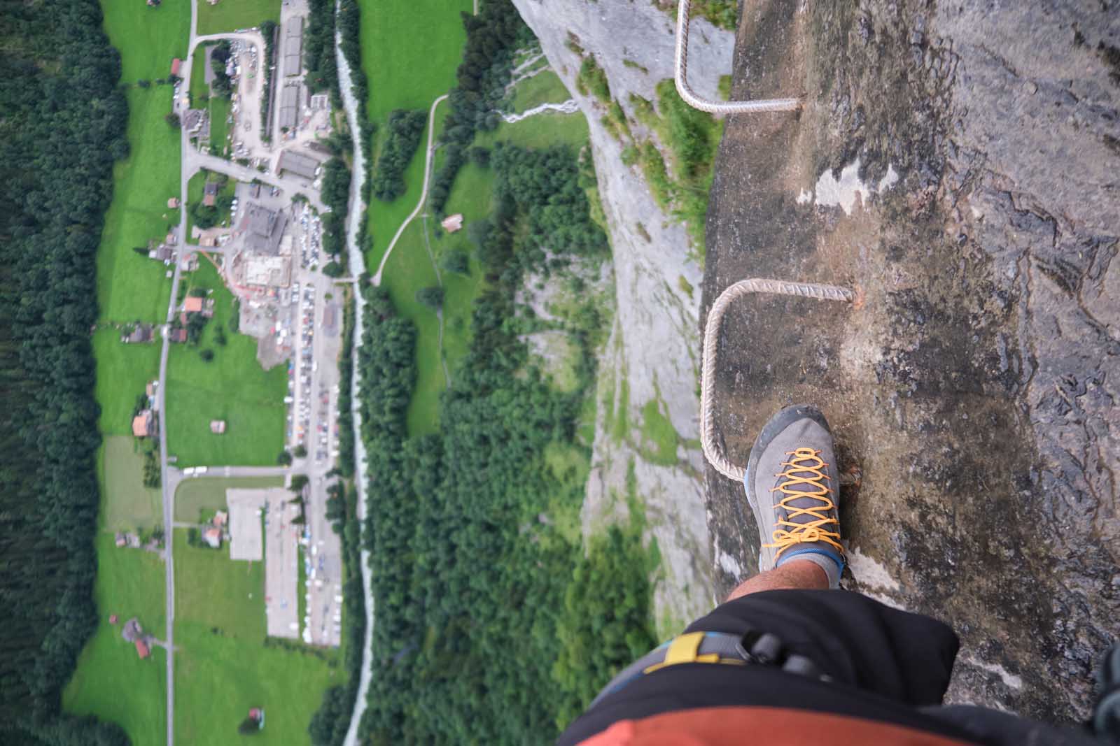
{"label": "pale grey cliff face with green patches, far below the dark rock", "polygon": [[[514,4],[587,116],[613,247],[616,314],[600,360],[585,533],[607,521],[627,520],[627,498],[638,499],[647,539],[656,541],[662,557],[654,588],[659,632],[679,632],[713,597],[703,457],[697,443],[700,299],[692,287],[702,273],[691,258],[684,228],[661,211],[640,171],[623,163],[622,143],[600,122],[603,103],[576,86],[582,58],[594,56],[627,114],[633,115],[631,93],[655,100],[654,86],[673,75],[673,17],[650,2],[629,0]],[[734,38],[699,21],[691,45],[694,85],[715,97],[719,75],[730,70]],[[710,74],[701,79],[706,72]],[[668,457],[648,435],[653,421],[663,425],[663,419],[678,442],[675,455],[670,446]]]}

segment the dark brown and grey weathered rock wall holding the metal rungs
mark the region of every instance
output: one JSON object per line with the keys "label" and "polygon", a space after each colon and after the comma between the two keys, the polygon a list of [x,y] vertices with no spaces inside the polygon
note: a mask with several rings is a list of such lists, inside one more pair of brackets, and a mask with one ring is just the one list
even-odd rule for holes
{"label": "dark brown and grey weathered rock wall holding the metal rungs", "polygon": [[[846,586],[954,626],[951,700],[1073,719],[1120,636],[1120,13],[1020,4],[752,2],[732,97],[804,106],[727,125],[703,310],[746,276],[858,290],[732,309],[728,452],[820,404],[862,472]],[[758,538],[707,479],[726,591]]]}

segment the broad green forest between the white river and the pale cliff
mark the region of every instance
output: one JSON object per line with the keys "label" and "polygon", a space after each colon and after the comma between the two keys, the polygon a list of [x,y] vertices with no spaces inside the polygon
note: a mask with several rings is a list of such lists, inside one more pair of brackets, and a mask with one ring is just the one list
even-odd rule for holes
{"label": "broad green forest between the white river and the pale cliff", "polygon": [[[594,395],[594,355],[577,390],[557,391],[516,323],[515,295],[541,246],[571,256],[604,252],[606,238],[570,150],[506,145],[491,162],[497,207],[477,251],[485,287],[437,433],[408,436],[412,322],[384,290],[364,291],[364,537],[377,623],[363,743],[549,743],[589,692],[654,644],[640,529],[615,530],[585,554],[548,519],[582,501],[584,484],[560,485],[547,453],[590,455],[576,423]],[[589,651],[599,659],[582,665]]]}

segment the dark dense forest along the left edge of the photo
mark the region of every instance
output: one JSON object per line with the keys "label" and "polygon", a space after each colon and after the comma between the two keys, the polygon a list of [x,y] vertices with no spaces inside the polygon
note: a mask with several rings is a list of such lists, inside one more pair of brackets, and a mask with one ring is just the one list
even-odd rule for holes
{"label": "dark dense forest along the left edge of the photo", "polygon": [[0,742],[119,746],[119,726],[60,700],[97,625],[90,330],[128,154],[121,62],[96,0],[4,0],[0,18]]}

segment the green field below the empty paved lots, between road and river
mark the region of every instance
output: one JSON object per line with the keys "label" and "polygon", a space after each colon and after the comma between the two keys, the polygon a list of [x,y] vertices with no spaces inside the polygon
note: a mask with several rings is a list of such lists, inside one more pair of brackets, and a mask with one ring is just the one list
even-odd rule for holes
{"label": "green field below the empty paved lots, between road and river", "polygon": [[[175,532],[175,731],[185,744],[240,740],[252,707],[264,709],[259,744],[309,744],[307,726],[327,687],[343,680],[337,651],[265,644],[264,566]],[[221,603],[214,599],[221,598]]]}

